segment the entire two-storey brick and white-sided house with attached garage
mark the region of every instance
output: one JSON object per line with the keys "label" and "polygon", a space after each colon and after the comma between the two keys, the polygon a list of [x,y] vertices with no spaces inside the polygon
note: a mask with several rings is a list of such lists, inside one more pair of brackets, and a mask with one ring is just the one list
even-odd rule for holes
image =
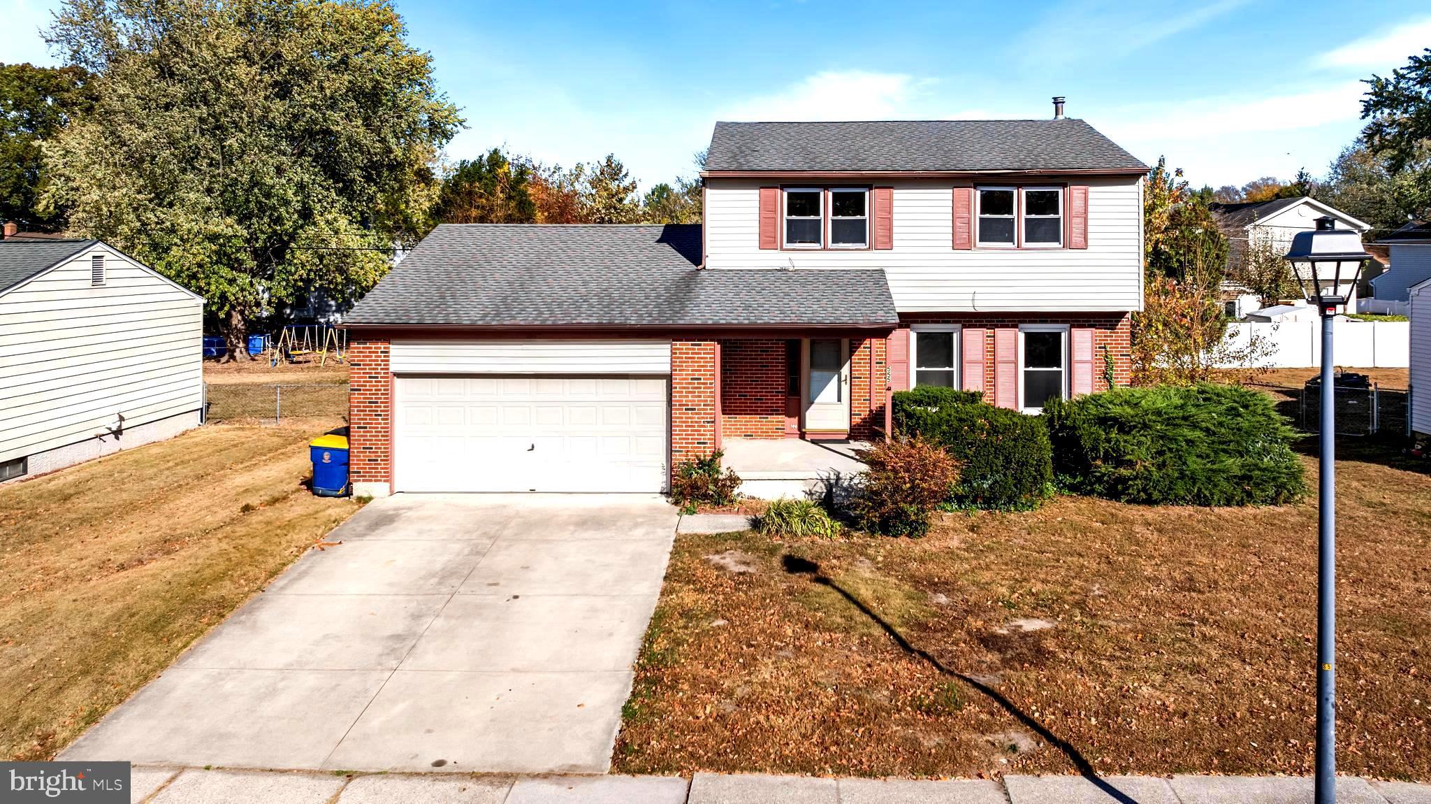
{"label": "entire two-storey brick and white-sided house with attached garage", "polygon": [[717,123],[704,226],[438,226],[346,316],[353,489],[654,492],[910,383],[1126,383],[1146,170],[1062,114]]}

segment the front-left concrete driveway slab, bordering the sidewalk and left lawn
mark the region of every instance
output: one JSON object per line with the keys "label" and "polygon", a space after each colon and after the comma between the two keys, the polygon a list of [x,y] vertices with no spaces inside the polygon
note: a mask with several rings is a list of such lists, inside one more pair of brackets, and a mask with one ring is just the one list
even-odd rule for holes
{"label": "front-left concrete driveway slab, bordering the sidewalk and left lawn", "polygon": [[59,760],[316,768],[388,671],[170,668]]}

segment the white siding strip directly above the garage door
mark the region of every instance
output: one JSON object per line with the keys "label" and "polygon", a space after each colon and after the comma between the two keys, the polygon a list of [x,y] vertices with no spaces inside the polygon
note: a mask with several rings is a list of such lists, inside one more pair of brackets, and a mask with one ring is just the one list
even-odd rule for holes
{"label": "white siding strip directly above the garage door", "polygon": [[394,373],[657,373],[670,340],[394,340]]}

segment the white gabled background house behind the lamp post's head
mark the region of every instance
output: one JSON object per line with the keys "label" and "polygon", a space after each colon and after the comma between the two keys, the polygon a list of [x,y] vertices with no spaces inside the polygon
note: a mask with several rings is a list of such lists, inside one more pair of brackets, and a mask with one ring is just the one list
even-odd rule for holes
{"label": "white gabled background house behind the lamp post's head", "polygon": [[[1292,246],[1292,237],[1298,232],[1317,229],[1317,219],[1322,216],[1331,216],[1338,227],[1351,229],[1358,235],[1371,230],[1369,223],[1307,196],[1251,203],[1212,203],[1208,209],[1228,237],[1228,269],[1234,272],[1256,245],[1265,245],[1276,255],[1286,253]],[[1355,312],[1357,286],[1351,282],[1344,283],[1339,293],[1347,296],[1344,309]]]}

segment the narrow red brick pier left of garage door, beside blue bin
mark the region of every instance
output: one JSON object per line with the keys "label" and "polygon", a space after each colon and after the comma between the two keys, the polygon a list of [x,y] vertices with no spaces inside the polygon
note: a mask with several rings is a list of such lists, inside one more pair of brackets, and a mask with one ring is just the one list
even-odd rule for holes
{"label": "narrow red brick pier left of garage door, beside blue bin", "polygon": [[386,338],[348,342],[348,474],[355,484],[392,476],[392,372]]}

